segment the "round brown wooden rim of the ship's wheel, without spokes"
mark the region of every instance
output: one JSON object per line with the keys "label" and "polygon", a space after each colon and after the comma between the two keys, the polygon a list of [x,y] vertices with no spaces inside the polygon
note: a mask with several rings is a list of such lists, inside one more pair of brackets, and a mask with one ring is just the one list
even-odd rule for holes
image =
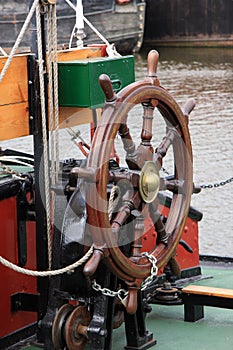
{"label": "round brown wooden rim of the ship's wheel, without spokes", "polygon": [[[114,108],[109,105],[105,107],[100,125],[94,135],[87,164],[90,168],[98,169],[98,182],[92,183],[87,190],[88,223],[93,240],[99,246],[107,246],[110,252],[107,255],[108,263],[119,277],[124,275],[126,280],[144,279],[150,274],[151,264],[146,259],[127,257],[118,247],[113,234],[114,225],[110,223],[107,213],[108,160],[119,128],[123,124],[127,125],[128,113],[133,106],[138,104],[144,105],[147,115],[151,114],[151,110],[156,105],[156,109],[167,124],[168,133],[171,135],[176,133],[172,141],[175,163],[174,179],[180,184],[183,182],[183,185],[180,185],[181,193],[179,191],[177,194],[173,193],[166,223],[167,241],[166,243],[165,241],[157,242],[151,251],[158,261],[159,268],[170,259],[180,240],[192,194],[192,148],[183,112],[172,96],[162,87],[152,85],[148,83],[148,80],[131,84],[118,94]],[[168,133],[165,136],[167,140],[171,137],[168,136]],[[148,141],[146,137],[142,140],[145,144]],[[142,163],[138,166],[139,169],[146,161],[151,161],[150,145],[147,148],[146,159],[138,161]]]}

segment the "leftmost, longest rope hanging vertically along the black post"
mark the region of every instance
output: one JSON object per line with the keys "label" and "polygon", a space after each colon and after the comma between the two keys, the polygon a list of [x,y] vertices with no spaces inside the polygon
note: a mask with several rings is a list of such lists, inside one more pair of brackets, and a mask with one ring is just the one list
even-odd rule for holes
{"label": "leftmost, longest rope hanging vertically along the black post", "polygon": [[48,240],[48,262],[51,268],[52,260],[52,237],[51,237],[51,212],[50,212],[50,188],[49,188],[49,170],[48,170],[48,145],[47,145],[47,121],[46,121],[46,103],[44,94],[44,61],[42,52],[42,36],[41,36],[41,18],[40,5],[36,7],[36,24],[37,24],[37,41],[38,41],[38,65],[39,65],[39,81],[40,81],[40,101],[41,101],[41,117],[42,117],[42,138],[43,138],[43,161],[44,161],[44,181],[45,181],[45,210],[47,224],[47,240]]}

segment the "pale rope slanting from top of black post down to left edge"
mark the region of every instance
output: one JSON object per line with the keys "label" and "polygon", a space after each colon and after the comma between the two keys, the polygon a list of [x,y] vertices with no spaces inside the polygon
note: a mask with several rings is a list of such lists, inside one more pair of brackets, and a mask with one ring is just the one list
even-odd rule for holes
{"label": "pale rope slanting from top of black post down to left edge", "polygon": [[40,0],[35,0],[33,5],[32,5],[32,7],[30,8],[30,11],[29,11],[29,13],[27,15],[27,18],[26,18],[26,20],[25,20],[25,22],[23,24],[23,27],[22,27],[22,29],[21,29],[21,31],[20,31],[20,33],[19,33],[19,35],[18,35],[18,37],[17,37],[17,39],[15,41],[15,44],[14,44],[14,46],[13,46],[11,52],[10,52],[10,55],[8,56],[8,59],[7,59],[6,63],[5,63],[5,65],[4,65],[4,67],[3,67],[3,70],[2,70],[1,75],[0,75],[0,82],[3,80],[3,78],[4,78],[5,74],[6,74],[6,71],[7,71],[8,67],[9,67],[9,65],[10,65],[10,63],[12,61],[12,58],[15,55],[15,52],[16,52],[17,48],[19,47],[22,39],[23,39],[23,36],[24,36],[28,26],[29,26],[29,23],[30,23],[30,21],[32,19],[32,16],[33,16],[33,14],[35,12],[35,9],[36,9],[39,1]]}

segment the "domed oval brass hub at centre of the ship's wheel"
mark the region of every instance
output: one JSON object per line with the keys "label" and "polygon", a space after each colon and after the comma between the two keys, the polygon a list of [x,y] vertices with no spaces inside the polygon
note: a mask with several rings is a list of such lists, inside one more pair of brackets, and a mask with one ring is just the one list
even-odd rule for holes
{"label": "domed oval brass hub at centre of the ship's wheel", "polygon": [[139,191],[144,202],[151,203],[159,192],[160,176],[154,162],[144,164],[139,179]]}

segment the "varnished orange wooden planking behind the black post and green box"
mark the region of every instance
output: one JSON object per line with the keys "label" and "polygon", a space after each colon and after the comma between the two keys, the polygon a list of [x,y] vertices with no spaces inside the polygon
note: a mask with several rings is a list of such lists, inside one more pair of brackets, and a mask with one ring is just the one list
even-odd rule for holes
{"label": "varnished orange wooden planking behind the black post and green box", "polygon": [[[101,57],[103,46],[58,51],[58,61],[71,61]],[[29,135],[27,54],[18,55],[0,83],[0,141]],[[0,56],[0,72],[7,57]],[[88,108],[62,107],[59,111],[60,127],[90,123],[92,111]]]}

